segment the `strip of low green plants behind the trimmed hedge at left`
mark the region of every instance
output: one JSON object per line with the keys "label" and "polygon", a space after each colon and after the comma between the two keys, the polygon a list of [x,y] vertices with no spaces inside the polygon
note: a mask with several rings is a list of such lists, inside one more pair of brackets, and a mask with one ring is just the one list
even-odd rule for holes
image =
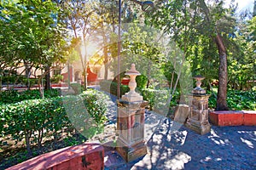
{"label": "strip of low green plants behind the trimmed hedge at left", "polygon": [[[52,98],[61,95],[61,91],[59,89],[49,89],[44,90],[45,98]],[[26,99],[40,99],[40,91],[39,90],[26,90],[23,92],[18,92],[16,90],[7,90],[0,92],[0,103],[3,104],[12,104],[17,103]]]}

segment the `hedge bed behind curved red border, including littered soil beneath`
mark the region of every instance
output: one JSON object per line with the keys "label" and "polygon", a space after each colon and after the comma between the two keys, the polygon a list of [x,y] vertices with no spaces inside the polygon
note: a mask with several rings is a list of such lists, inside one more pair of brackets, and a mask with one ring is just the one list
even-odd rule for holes
{"label": "hedge bed behind curved red border, including littered soil beneath", "polygon": [[105,98],[101,92],[87,90],[0,105],[0,169],[100,133],[107,120]]}

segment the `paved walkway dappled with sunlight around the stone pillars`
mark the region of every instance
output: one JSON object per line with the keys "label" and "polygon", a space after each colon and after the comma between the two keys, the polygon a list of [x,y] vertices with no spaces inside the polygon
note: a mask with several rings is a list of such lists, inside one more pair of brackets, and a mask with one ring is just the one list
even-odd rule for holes
{"label": "paved walkway dappled with sunlight around the stone pillars", "polygon": [[[105,142],[116,139],[116,105],[111,98]],[[256,169],[256,127],[212,126],[210,133],[200,135],[147,111],[145,140],[148,154],[129,163],[115,150],[106,151],[105,169]]]}

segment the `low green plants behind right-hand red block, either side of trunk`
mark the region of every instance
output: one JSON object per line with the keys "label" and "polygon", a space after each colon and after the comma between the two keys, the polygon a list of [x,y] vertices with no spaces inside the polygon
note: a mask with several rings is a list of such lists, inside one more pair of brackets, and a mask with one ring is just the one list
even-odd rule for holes
{"label": "low green plants behind right-hand red block, either side of trunk", "polygon": [[[230,110],[256,111],[256,92],[228,90],[227,103]],[[209,108],[216,107],[216,99],[213,95],[209,98]]]}

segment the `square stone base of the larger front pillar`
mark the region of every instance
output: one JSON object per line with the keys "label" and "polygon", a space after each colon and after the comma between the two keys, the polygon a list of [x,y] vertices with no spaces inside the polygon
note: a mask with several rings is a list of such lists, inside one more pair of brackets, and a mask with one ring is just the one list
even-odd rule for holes
{"label": "square stone base of the larger front pillar", "polygon": [[117,141],[116,150],[119,155],[123,157],[126,162],[134,161],[137,158],[147,155],[147,146],[144,141],[134,144],[131,146],[127,146],[120,139]]}

